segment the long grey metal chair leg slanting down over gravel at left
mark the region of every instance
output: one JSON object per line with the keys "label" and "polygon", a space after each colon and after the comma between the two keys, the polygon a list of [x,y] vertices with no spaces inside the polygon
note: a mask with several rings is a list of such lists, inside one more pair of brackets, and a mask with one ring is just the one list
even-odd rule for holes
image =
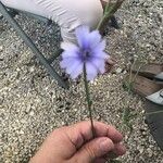
{"label": "long grey metal chair leg slanting down over gravel at left", "polygon": [[17,32],[18,36],[25,41],[25,43],[32,49],[32,51],[36,54],[39,61],[45,65],[48,70],[48,73],[58,80],[59,85],[63,88],[68,88],[67,84],[60,77],[60,75],[54,71],[54,68],[48,63],[48,60],[42,55],[42,53],[37,49],[33,40],[24,33],[21,26],[16,23],[16,21],[8,13],[5,7],[0,2],[0,12],[7,18],[7,21],[12,25],[12,27]]}

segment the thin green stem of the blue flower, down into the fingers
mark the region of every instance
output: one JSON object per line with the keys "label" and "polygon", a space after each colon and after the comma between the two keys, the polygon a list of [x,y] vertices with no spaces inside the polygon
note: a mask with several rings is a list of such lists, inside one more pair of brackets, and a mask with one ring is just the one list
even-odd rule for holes
{"label": "thin green stem of the blue flower, down into the fingers", "polygon": [[92,121],[92,112],[91,112],[91,100],[90,100],[90,93],[89,93],[89,86],[87,82],[87,73],[86,73],[86,65],[84,64],[84,83],[85,83],[85,90],[86,90],[86,101],[87,101],[87,106],[89,111],[89,118],[90,118],[90,124],[91,124],[91,131],[92,131],[92,137],[96,137],[95,128],[93,128],[93,121]]}

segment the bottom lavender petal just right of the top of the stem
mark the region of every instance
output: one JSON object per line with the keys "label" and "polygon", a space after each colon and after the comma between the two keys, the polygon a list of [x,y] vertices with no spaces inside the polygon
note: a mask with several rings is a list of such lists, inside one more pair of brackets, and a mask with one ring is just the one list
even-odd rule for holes
{"label": "bottom lavender petal just right of the top of the stem", "polygon": [[87,73],[87,80],[93,80],[95,77],[98,75],[98,70],[91,62],[86,63],[86,73]]}

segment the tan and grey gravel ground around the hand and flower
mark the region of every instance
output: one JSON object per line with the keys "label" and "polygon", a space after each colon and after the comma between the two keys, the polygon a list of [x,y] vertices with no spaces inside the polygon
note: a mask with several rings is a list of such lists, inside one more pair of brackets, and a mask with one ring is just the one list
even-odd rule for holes
{"label": "tan and grey gravel ground around the hand and flower", "polygon": [[[125,134],[125,163],[163,163],[163,153],[145,123],[145,101],[128,95],[123,78],[133,58],[143,62],[163,61],[162,0],[126,0],[117,13],[122,26],[106,35],[110,52],[117,60],[115,71],[90,84],[98,121],[111,123]],[[21,15],[16,17],[47,55],[55,50],[54,34],[45,24]],[[71,89],[59,88],[33,53],[3,20],[0,22],[0,162],[27,162],[55,127],[88,118],[83,82]],[[128,109],[128,125],[123,112]]]}

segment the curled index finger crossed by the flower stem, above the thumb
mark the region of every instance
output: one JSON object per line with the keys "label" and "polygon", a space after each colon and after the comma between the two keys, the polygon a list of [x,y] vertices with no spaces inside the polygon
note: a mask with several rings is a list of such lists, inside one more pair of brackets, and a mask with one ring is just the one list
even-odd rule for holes
{"label": "curled index finger crossed by the flower stem, above the thumb", "polygon": [[[113,142],[120,142],[123,139],[122,134],[113,126],[109,126],[100,122],[93,122],[93,127],[96,137],[109,137]],[[93,138],[89,121],[70,126],[65,131],[76,149],[80,148],[82,145]]]}

